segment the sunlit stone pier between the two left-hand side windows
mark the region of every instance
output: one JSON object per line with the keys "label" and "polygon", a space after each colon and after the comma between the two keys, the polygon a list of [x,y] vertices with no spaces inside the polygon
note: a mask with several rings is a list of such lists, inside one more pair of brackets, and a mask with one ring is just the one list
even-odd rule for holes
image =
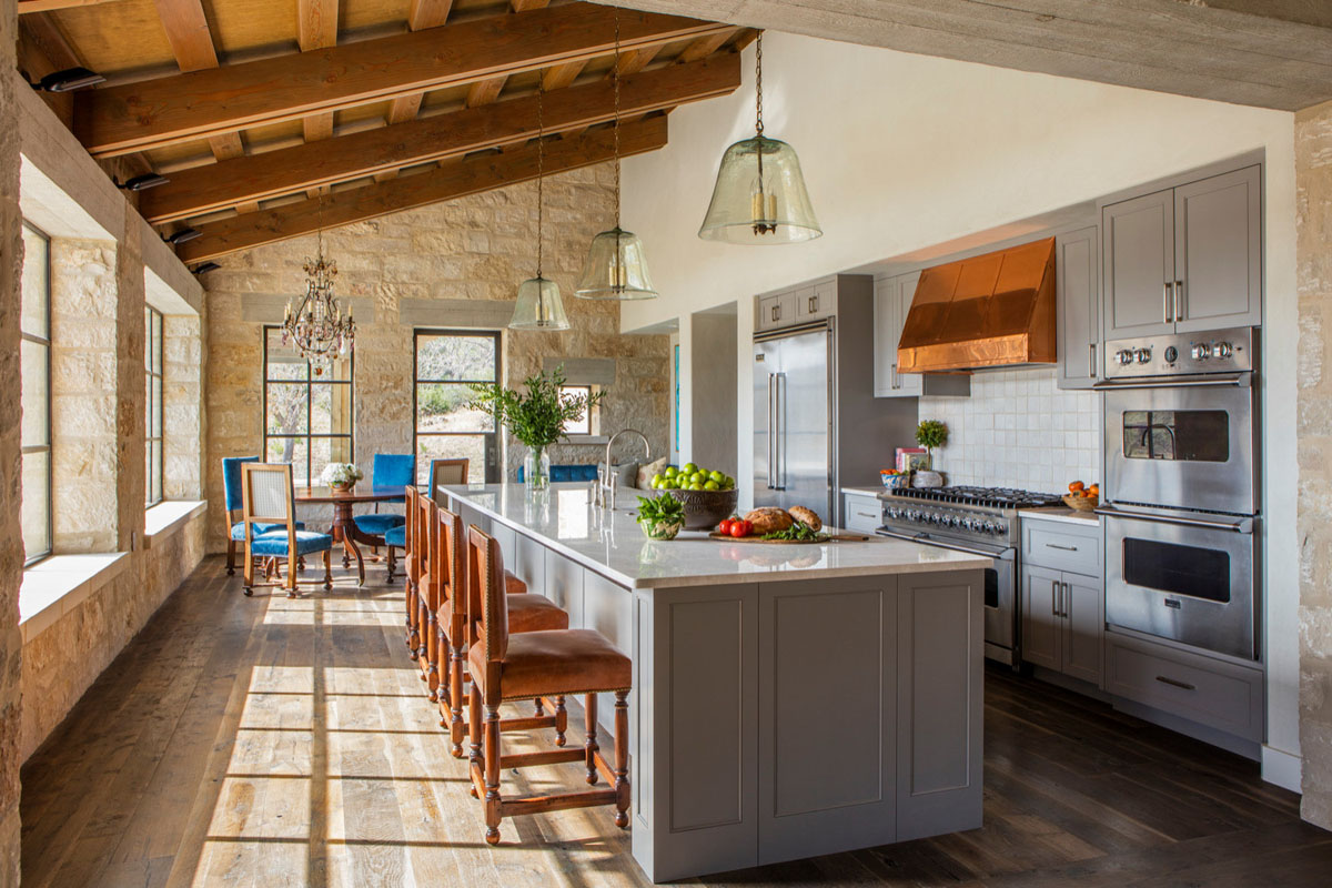
{"label": "sunlit stone pier between the two left-hand side windows", "polygon": [[116,490],[120,458],[116,330],[116,244],[53,238],[51,499],[57,554],[117,550],[116,497],[107,493]]}

